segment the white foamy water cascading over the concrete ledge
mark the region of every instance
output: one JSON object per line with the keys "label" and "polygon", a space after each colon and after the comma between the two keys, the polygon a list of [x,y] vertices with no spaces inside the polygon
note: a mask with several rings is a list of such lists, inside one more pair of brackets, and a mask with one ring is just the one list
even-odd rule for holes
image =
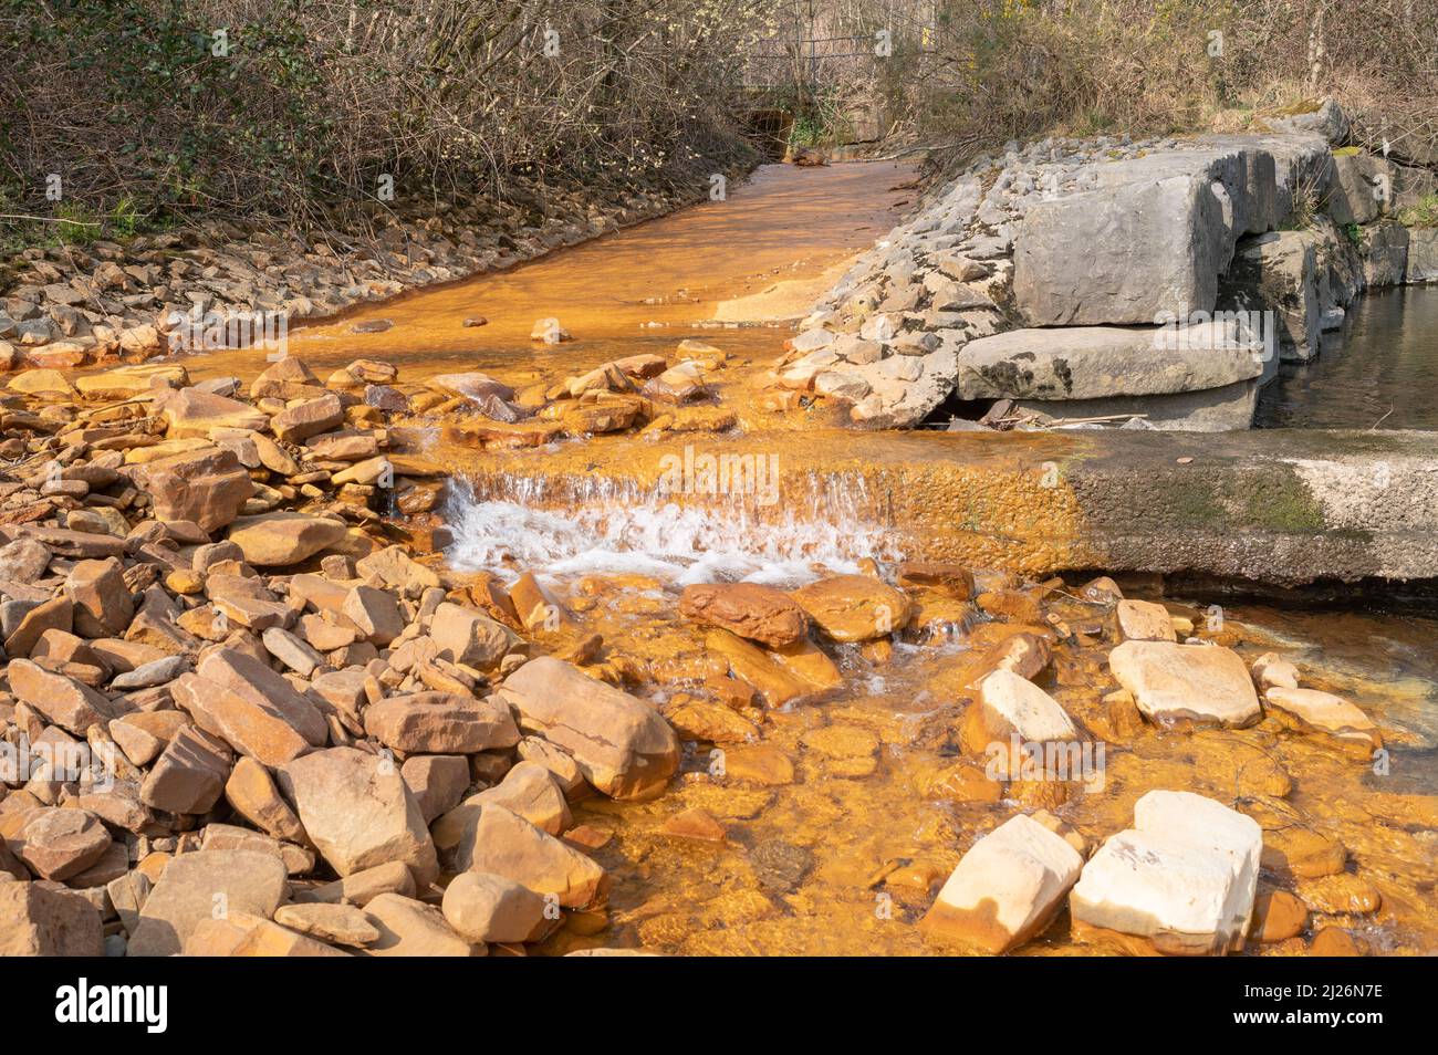
{"label": "white foamy water cascading over the concrete ledge", "polygon": [[[565,486],[574,492],[572,482]],[[903,556],[894,533],[867,515],[861,482],[815,480],[807,499],[772,507],[726,494],[680,503],[600,479],[565,494],[562,506],[549,492],[541,477],[454,480],[450,565],[555,578],[631,572],[677,586],[797,585],[820,566],[853,572],[866,556]]]}

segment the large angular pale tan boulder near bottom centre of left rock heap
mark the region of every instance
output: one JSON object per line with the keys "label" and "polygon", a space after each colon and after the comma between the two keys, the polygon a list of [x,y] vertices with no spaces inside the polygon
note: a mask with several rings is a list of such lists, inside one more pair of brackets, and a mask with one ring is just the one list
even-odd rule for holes
{"label": "large angular pale tan boulder near bottom centre of left rock heap", "polygon": [[341,877],[403,861],[417,884],[439,875],[434,842],[393,759],[331,747],[279,768],[280,791]]}

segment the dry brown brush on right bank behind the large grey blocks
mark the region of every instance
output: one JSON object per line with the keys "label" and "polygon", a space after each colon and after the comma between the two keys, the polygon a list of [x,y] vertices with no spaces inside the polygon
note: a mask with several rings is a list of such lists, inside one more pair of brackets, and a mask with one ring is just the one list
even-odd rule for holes
{"label": "dry brown brush on right bank behind the large grey blocks", "polygon": [[916,142],[971,152],[1048,134],[1261,131],[1333,95],[1363,145],[1438,162],[1432,0],[782,6],[791,33],[838,40],[811,47],[815,98],[869,99]]}

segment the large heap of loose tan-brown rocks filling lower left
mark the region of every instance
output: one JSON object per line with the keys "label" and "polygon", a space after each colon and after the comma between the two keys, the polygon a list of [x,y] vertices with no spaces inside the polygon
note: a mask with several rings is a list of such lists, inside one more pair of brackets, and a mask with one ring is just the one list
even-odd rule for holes
{"label": "large heap of loose tan-brown rocks filling lower left", "polygon": [[0,952],[467,956],[603,906],[567,796],[654,795],[679,740],[538,654],[532,579],[388,545],[443,474],[393,367],[338,374],[12,384]]}

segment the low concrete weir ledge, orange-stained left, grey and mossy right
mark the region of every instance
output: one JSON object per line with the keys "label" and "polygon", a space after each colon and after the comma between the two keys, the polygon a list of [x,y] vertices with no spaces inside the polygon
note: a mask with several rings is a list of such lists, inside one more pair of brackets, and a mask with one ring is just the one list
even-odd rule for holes
{"label": "low concrete weir ledge, orange-stained left, grey and mossy right", "polygon": [[[777,460],[778,500],[657,496],[686,446],[716,460]],[[745,532],[863,517],[892,529],[906,556],[1032,576],[1091,568],[1280,586],[1438,578],[1434,433],[689,434],[643,448],[594,441],[454,460],[482,493],[529,503],[680,502]]]}

